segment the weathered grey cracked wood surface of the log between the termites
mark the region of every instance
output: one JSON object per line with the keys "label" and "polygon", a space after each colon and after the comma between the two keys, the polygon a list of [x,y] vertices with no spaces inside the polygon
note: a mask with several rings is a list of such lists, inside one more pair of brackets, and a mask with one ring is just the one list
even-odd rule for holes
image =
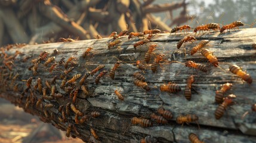
{"label": "weathered grey cracked wood surface of the log between the termites", "polygon": [[[62,57],[66,58],[65,61],[71,56],[76,57],[78,65],[67,75],[67,79],[71,79],[77,73],[84,74],[88,70],[91,71],[99,64],[104,64],[104,70],[110,71],[116,61],[118,61],[117,57],[119,60],[124,61],[124,63],[116,70],[115,80],[112,80],[109,76],[103,76],[100,83],[96,85],[95,76],[88,77],[85,85],[91,93],[90,97],[85,99],[82,91],[79,91],[76,106],[82,113],[90,114],[91,111],[101,112],[100,117],[90,118],[90,120],[82,125],[75,125],[82,135],[79,138],[84,141],[94,140],[90,133],[90,128],[94,128],[97,135],[100,136],[98,142],[138,142],[147,135],[153,135],[159,142],[174,142],[174,136],[177,142],[188,142],[190,132],[196,133],[201,139],[205,138],[206,142],[254,142],[256,139],[254,136],[256,135],[256,113],[252,113],[251,105],[255,102],[255,81],[251,85],[243,82],[229,71],[229,66],[230,64],[238,64],[243,70],[251,74],[252,79],[255,80],[256,51],[252,48],[252,43],[256,42],[256,29],[232,30],[232,32],[221,34],[220,32],[205,32],[203,35],[202,33],[196,35],[198,42],[202,39],[210,41],[207,48],[214,52],[214,55],[220,61],[221,68],[209,64],[208,60],[199,53],[193,56],[187,54],[186,57],[174,57],[174,51],[184,51],[183,46],[177,50],[177,42],[183,36],[184,33],[158,34],[152,38],[150,43],[158,45],[154,52],[156,55],[165,54],[165,60],[177,60],[183,63],[187,60],[193,60],[197,63],[208,64],[209,71],[207,73],[189,69],[184,67],[184,64],[169,64],[168,62],[164,62],[156,73],[152,73],[149,64],[144,73],[146,82],[151,88],[147,92],[133,83],[134,78],[132,74],[140,71],[135,66],[135,61],[144,60],[145,52],[147,52],[150,44],[139,46],[134,50],[133,44],[138,41],[138,38],[128,40],[127,36],[122,36],[120,38],[122,43],[119,45],[119,48],[114,47],[110,48],[110,50],[107,48],[107,42],[110,41],[109,38],[27,45],[22,48],[12,48],[6,51],[8,55],[13,55],[17,50],[22,54],[15,58],[13,71],[1,69],[0,83],[2,88],[0,96],[24,108],[26,97],[29,96],[30,92],[26,92],[25,98],[20,101],[20,94],[26,89],[26,82],[21,80],[33,77],[33,87],[38,77],[40,77],[43,81],[43,86],[45,86],[45,80],[51,80],[54,76],[60,76],[63,73],[64,67],[61,66],[54,69],[53,73],[49,73],[48,69],[51,64],[46,68],[44,62],[39,64],[38,73],[35,76],[32,71],[27,69],[31,65],[30,60],[37,58],[43,51],[48,51],[51,54],[57,48],[59,53],[55,55],[56,62],[60,61]],[[190,49],[198,42],[186,43],[186,51],[190,53]],[[89,46],[94,48],[92,50],[93,55],[84,59],[81,55]],[[29,61],[23,62],[23,58],[28,55],[31,55],[32,58]],[[150,63],[152,63],[153,57],[155,56],[152,56]],[[20,74],[15,81],[19,86],[18,92],[14,92],[13,86],[10,85],[13,77],[10,76],[10,73],[12,75]],[[195,75],[195,83],[192,85],[195,90],[192,90],[192,100],[187,101],[184,98],[183,91],[186,86],[187,77],[191,74]],[[58,113],[57,108],[60,105],[66,105],[67,102],[72,102],[69,94],[65,94],[65,91],[60,89],[61,80],[60,78],[57,79],[55,85],[57,86],[57,91],[63,94],[64,97],[58,100],[44,100],[43,104],[50,102],[54,104],[54,108],[48,109],[49,113],[54,113],[54,119],[48,122],[58,123],[61,129],[66,130],[68,123],[75,123],[75,114],[72,113],[72,116],[68,117],[68,123],[60,123],[57,119],[58,116],[61,117],[61,113]],[[159,86],[168,82],[177,83],[181,87],[182,92],[178,92],[178,94],[161,92]],[[215,104],[214,100],[215,91],[220,89],[220,85],[226,82],[233,83],[232,89],[226,95],[235,94],[238,97],[234,100],[236,103],[232,105],[234,110],[227,108],[224,116],[220,120],[216,120],[214,112],[218,104]],[[115,89],[118,89],[124,95],[124,101],[118,100],[114,93]],[[42,94],[39,94],[38,91],[33,92],[37,99],[42,98]],[[50,95],[50,90],[48,94]],[[174,119],[169,121],[167,125],[158,125],[155,122],[151,128],[131,125],[132,117],[149,117],[151,113],[156,113],[156,110],[161,106],[174,114]],[[30,105],[24,111],[45,118],[42,110],[35,108],[35,104],[33,106]],[[242,119],[242,115],[246,111],[250,112],[245,119]],[[196,114],[199,116],[198,122],[201,129],[198,129],[196,123],[183,126],[177,125],[175,118],[180,114]],[[73,130],[71,132],[72,135],[75,135]],[[245,133],[248,135],[245,135]]]}

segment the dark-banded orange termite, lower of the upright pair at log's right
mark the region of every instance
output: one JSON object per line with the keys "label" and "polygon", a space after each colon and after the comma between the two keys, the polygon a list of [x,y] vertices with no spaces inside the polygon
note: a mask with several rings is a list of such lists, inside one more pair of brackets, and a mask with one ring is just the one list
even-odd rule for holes
{"label": "dark-banded orange termite, lower of the upright pair at log's right", "polygon": [[218,120],[223,116],[227,106],[233,103],[233,98],[236,98],[236,95],[232,94],[224,98],[224,101],[215,110],[215,119]]}

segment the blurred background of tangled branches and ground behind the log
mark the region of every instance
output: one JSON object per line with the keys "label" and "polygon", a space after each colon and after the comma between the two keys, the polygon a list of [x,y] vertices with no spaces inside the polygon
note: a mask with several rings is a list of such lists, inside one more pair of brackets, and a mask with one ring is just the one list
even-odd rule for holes
{"label": "blurred background of tangled branches and ground behind the log", "polygon": [[[0,0],[0,45],[58,42],[59,38],[106,38],[129,29],[143,32],[189,24],[255,27],[255,0]],[[0,99],[0,142],[82,142]]]}

